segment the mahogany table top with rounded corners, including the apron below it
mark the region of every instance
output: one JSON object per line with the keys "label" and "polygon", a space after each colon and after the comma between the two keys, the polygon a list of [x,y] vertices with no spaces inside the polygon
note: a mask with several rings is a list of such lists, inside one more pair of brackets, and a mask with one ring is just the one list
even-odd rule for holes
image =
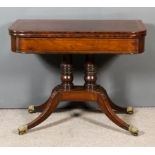
{"label": "mahogany table top with rounded corners, including the apron below it", "polygon": [[141,20],[17,20],[10,26],[12,50],[25,53],[140,53]]}

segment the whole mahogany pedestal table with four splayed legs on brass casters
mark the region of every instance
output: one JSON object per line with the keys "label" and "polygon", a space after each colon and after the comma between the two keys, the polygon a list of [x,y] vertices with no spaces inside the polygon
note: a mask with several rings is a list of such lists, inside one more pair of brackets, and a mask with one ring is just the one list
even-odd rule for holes
{"label": "whole mahogany pedestal table with four splayed legs on brass casters", "polygon": [[[141,20],[17,20],[9,28],[11,49],[26,54],[60,54],[61,84],[49,99],[31,105],[29,113],[41,112],[32,122],[18,128],[24,134],[47,119],[60,101],[95,101],[119,127],[138,135],[138,129],[117,116],[116,111],[133,113],[132,107],[113,103],[106,90],[96,84],[94,54],[138,54],[144,51],[146,28]],[[86,56],[84,85],[73,84],[72,55]]]}

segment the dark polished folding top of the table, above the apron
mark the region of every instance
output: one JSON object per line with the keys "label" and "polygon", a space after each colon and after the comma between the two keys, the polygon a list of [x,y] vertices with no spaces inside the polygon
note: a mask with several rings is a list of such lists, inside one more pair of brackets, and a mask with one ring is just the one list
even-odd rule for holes
{"label": "dark polished folding top of the table, above the apron", "polygon": [[[10,34],[21,37],[136,37],[146,33],[140,20],[17,20]],[[55,36],[56,35],[56,36]],[[59,35],[59,36],[58,36]],[[116,36],[115,36],[116,35]],[[76,36],[76,37],[78,37]]]}

